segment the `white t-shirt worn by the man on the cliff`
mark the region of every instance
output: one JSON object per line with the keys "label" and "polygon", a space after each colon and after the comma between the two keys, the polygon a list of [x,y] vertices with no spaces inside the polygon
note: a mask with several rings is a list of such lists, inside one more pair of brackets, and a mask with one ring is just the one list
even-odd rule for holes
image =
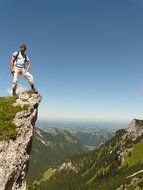
{"label": "white t-shirt worn by the man on the cliff", "polygon": [[[17,54],[18,54],[18,52],[16,51],[13,53],[13,56],[17,57]],[[27,62],[29,62],[28,56],[25,54],[22,55],[21,52],[19,52],[18,57],[16,58],[16,60],[14,62],[14,65],[16,67],[25,68],[25,61],[26,61],[25,58],[27,59]]]}

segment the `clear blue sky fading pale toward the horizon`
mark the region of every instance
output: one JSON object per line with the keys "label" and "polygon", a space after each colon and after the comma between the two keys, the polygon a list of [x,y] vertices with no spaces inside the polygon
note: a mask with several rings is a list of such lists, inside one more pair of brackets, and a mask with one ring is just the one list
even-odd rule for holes
{"label": "clear blue sky fading pale toward the horizon", "polygon": [[143,118],[142,0],[1,0],[0,25],[0,96],[25,43],[40,118]]}

